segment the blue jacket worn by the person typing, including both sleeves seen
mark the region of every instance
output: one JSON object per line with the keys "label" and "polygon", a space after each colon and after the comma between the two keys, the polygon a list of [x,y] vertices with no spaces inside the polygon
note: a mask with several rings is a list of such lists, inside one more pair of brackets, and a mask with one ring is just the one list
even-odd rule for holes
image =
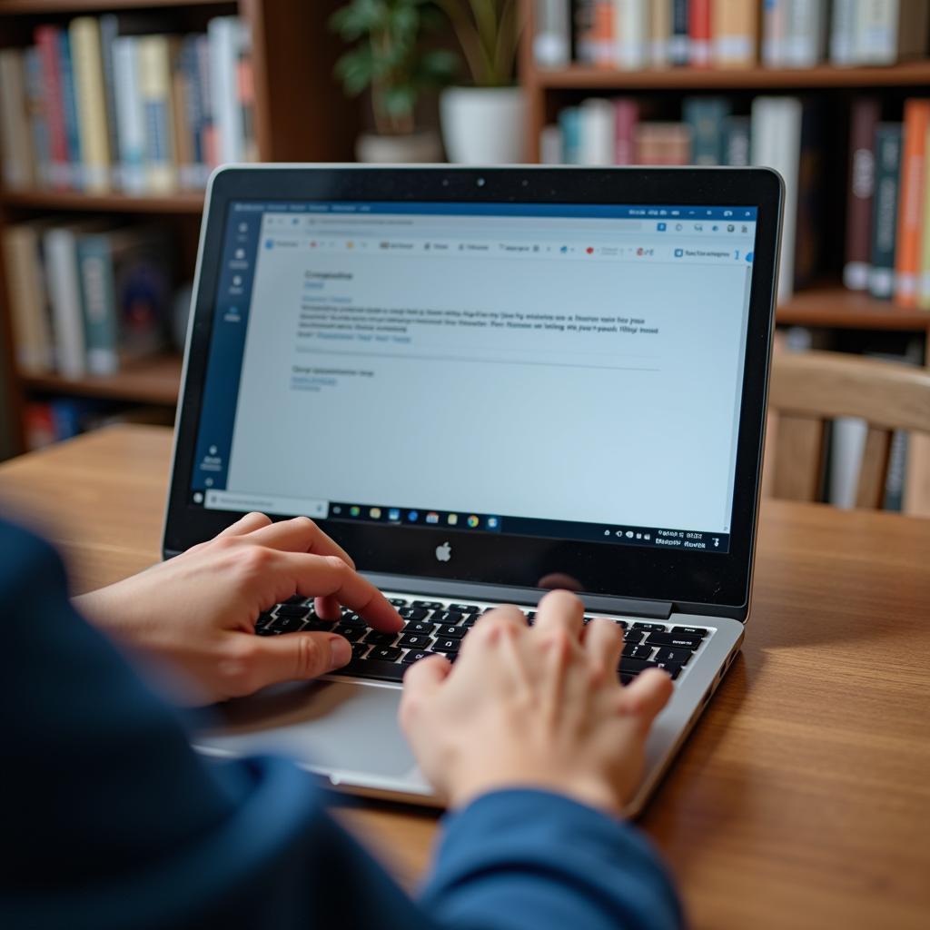
{"label": "blue jacket worn by the person typing, including both sleeves seen", "polygon": [[179,715],[69,604],[58,556],[0,523],[0,926],[677,927],[628,825],[536,790],[445,818],[408,897],[295,765],[207,763]]}

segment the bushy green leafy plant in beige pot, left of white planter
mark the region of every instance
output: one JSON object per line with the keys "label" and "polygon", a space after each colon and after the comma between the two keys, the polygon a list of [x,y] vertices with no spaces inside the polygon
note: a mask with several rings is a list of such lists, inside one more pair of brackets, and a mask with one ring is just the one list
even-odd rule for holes
{"label": "bushy green leafy plant in beige pot, left of white planter", "polygon": [[351,0],[329,20],[343,40],[354,43],[336,63],[346,93],[370,89],[375,132],[356,143],[362,162],[435,162],[441,148],[432,130],[416,130],[420,94],[445,86],[456,71],[456,56],[423,48],[423,33],[441,24],[432,0]]}

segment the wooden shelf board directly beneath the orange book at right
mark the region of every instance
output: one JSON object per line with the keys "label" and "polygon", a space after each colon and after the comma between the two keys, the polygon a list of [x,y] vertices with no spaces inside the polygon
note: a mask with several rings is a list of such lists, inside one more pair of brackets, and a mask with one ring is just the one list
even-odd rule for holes
{"label": "wooden shelf board directly beneath the orange book at right", "polygon": [[778,307],[776,322],[839,329],[897,329],[930,332],[930,311],[898,307],[861,291],[822,286],[800,291]]}

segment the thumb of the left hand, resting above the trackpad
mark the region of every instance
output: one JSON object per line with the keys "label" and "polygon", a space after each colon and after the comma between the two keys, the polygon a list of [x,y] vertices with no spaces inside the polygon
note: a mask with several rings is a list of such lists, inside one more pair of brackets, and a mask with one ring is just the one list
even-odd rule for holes
{"label": "thumb of the left hand, resting above the trackpad", "polygon": [[342,668],[352,658],[352,645],[335,633],[291,633],[255,637],[246,661],[246,693],[269,684],[305,681]]}

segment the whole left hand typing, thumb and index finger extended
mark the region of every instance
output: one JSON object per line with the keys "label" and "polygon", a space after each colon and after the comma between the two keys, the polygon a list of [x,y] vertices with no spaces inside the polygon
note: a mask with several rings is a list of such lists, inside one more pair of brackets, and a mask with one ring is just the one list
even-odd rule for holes
{"label": "whole left hand typing, thumb and index finger extended", "polygon": [[313,678],[352,658],[330,632],[255,635],[262,610],[298,593],[320,618],[352,607],[376,630],[403,622],[352,559],[306,517],[272,524],[249,513],[218,537],[132,578],[74,599],[117,640],[162,657],[193,680],[196,697],[224,700],[268,684]]}

